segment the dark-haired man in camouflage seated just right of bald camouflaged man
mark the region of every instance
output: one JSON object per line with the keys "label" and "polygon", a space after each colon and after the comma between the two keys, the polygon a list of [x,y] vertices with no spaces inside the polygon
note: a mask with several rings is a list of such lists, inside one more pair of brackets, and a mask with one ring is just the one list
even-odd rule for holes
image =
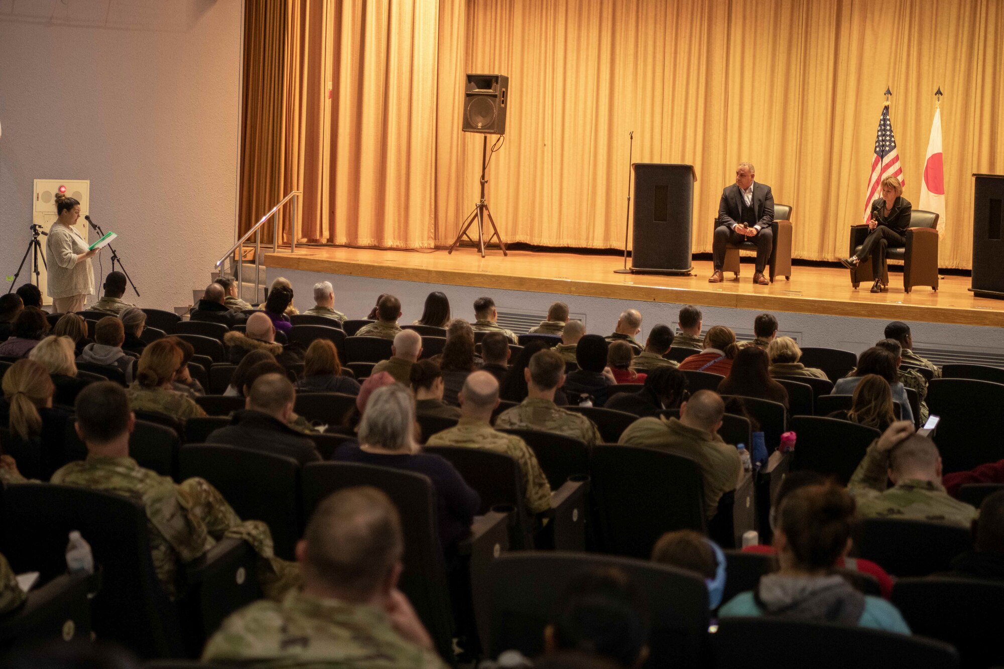
{"label": "dark-haired man in camouflage seated just right of bald camouflaged man", "polygon": [[549,349],[538,351],[530,358],[523,375],[528,391],[526,399],[499,414],[495,419],[497,429],[553,432],[588,446],[602,442],[592,421],[554,404],[554,393],[564,384],[564,360],[560,355]]}

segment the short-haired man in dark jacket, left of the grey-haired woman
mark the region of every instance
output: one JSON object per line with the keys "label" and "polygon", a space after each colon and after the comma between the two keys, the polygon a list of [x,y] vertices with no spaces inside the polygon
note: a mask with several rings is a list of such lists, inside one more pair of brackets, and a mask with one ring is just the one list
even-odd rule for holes
{"label": "short-haired man in dark jacket, left of the grey-haired woman", "polygon": [[243,411],[234,412],[230,425],[214,430],[207,444],[229,444],[295,459],[301,465],[320,460],[313,441],[289,427],[296,391],[279,374],[258,377],[251,386]]}

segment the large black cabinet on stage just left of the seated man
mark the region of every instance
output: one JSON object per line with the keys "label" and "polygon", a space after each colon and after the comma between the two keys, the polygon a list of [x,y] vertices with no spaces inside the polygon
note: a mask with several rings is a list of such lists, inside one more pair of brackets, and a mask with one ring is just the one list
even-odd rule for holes
{"label": "large black cabinet on stage just left of the seated man", "polygon": [[694,218],[693,165],[635,163],[632,271],[690,274]]}

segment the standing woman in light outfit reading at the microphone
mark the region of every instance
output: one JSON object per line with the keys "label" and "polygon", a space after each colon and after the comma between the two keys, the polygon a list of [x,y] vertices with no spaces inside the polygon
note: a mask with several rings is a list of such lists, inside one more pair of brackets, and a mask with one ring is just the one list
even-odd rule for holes
{"label": "standing woman in light outfit reading at the microphone", "polygon": [[82,311],[87,295],[94,294],[94,268],[90,259],[97,255],[98,249],[88,249],[72,228],[80,218],[79,202],[57,194],[56,213],[59,218],[52,224],[45,242],[46,292],[56,313]]}

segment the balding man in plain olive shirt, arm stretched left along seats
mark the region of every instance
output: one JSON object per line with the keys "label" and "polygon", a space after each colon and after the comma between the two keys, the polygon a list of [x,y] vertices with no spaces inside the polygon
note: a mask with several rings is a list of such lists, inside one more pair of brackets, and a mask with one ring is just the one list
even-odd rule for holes
{"label": "balding man in plain olive shirt, arm stretched left along seats", "polygon": [[624,430],[618,443],[696,461],[704,479],[704,511],[710,520],[718,512],[722,495],[736,489],[743,471],[739,451],[718,435],[724,416],[725,403],[718,393],[698,391],[680,405],[680,418],[640,418]]}

